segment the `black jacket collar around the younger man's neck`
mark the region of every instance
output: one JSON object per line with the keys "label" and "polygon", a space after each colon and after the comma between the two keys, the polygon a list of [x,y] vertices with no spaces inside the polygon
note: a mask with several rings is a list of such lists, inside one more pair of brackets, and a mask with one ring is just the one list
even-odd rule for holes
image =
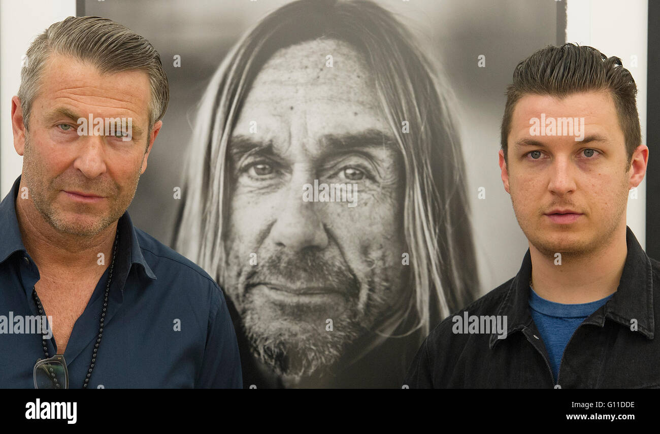
{"label": "black jacket collar around the younger man's neck", "polygon": [[[605,303],[604,311],[597,311],[586,321],[603,326],[605,319],[615,321],[630,328],[632,320],[639,332],[653,339],[655,317],[653,315],[653,268],[649,257],[642,249],[632,230],[626,226],[626,245],[628,254],[624,264],[619,286],[612,298]],[[529,279],[531,278],[532,262],[529,249],[525,253],[523,263],[511,282],[511,286],[498,306],[497,315],[507,315],[508,330],[506,336],[522,330],[532,319],[529,313]],[[506,339],[506,338],[505,338]],[[489,346],[499,342],[497,332],[490,336]]]}

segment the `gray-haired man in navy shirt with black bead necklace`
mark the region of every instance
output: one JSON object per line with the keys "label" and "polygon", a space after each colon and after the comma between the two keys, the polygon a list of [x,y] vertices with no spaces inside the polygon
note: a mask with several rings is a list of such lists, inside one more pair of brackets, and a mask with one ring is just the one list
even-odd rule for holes
{"label": "gray-haired man in navy shirt with black bead necklace", "polygon": [[126,212],[168,105],[160,55],[70,16],[27,59],[22,174],[0,203],[0,387],[242,387],[222,290]]}

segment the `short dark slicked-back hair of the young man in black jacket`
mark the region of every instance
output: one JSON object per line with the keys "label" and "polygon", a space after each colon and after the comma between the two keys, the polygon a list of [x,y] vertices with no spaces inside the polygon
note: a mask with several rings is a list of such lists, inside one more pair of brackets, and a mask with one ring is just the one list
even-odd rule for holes
{"label": "short dark slicked-back hair of the young man in black jacket", "polygon": [[504,160],[508,162],[507,138],[513,109],[524,95],[564,98],[576,92],[601,90],[609,92],[614,100],[630,164],[634,150],[642,143],[635,80],[618,57],[607,57],[593,47],[571,43],[539,49],[515,67],[513,82],[506,90],[502,118]]}

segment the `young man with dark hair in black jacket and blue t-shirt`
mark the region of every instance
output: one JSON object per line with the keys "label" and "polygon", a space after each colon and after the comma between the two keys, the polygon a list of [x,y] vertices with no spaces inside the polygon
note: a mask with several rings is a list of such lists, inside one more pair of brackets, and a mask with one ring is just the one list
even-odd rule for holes
{"label": "young man with dark hair in black jacket and blue t-shirt", "polygon": [[626,226],[649,152],[636,93],[620,59],[592,47],[517,65],[499,160],[529,250],[431,332],[409,387],[660,387],[660,263]]}

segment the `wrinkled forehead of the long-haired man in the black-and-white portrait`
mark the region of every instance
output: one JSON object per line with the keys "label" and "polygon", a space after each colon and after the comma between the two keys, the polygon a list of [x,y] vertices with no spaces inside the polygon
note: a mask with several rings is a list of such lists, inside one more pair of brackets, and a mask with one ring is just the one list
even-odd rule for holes
{"label": "wrinkled forehead of the long-haired man in the black-and-white portrait", "polygon": [[[333,56],[332,67],[327,55]],[[366,63],[343,42],[315,40],[281,49],[267,61],[234,135],[316,146],[322,135],[370,129],[389,132]]]}

